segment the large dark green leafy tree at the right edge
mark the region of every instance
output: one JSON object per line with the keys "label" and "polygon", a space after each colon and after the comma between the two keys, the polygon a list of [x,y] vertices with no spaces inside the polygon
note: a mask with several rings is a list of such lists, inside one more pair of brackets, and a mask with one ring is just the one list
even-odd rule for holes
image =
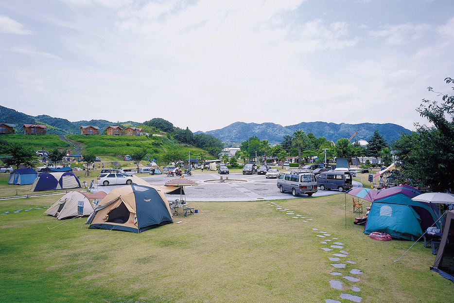
{"label": "large dark green leafy tree at the right edge", "polygon": [[[446,83],[454,83],[446,78]],[[454,88],[453,88],[454,89]],[[433,91],[432,88],[429,88]],[[417,111],[434,126],[418,125],[393,144],[397,165],[411,178],[434,192],[454,190],[454,96],[443,93],[442,102],[423,99]]]}

